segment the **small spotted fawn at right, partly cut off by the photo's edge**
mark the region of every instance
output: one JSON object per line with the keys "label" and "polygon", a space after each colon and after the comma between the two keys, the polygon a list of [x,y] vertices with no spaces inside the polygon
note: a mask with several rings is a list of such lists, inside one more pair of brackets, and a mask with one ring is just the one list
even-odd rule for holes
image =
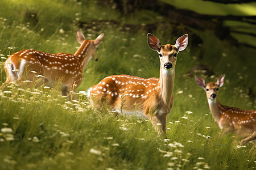
{"label": "small spotted fawn at right, partly cut off by the photo's edge", "polygon": [[204,88],[207,100],[214,120],[220,128],[224,128],[224,134],[234,132],[243,137],[240,145],[256,139],[256,111],[245,111],[238,108],[221,105],[218,101],[218,88],[223,86],[224,77],[218,78],[217,83],[207,83],[199,76],[195,76],[199,87]]}

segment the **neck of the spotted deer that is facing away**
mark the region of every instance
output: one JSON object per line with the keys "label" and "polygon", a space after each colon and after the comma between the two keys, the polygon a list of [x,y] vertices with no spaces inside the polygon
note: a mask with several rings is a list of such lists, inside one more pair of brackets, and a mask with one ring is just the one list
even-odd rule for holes
{"label": "neck of the spotted deer that is facing away", "polygon": [[84,40],[79,49],[77,49],[75,56],[78,58],[80,65],[82,66],[82,70],[88,65],[90,58],[92,57],[92,40]]}

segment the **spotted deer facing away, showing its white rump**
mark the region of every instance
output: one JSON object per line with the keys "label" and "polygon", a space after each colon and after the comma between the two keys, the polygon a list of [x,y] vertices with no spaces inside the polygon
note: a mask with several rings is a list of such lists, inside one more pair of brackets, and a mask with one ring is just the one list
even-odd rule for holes
{"label": "spotted deer facing away, showing its white rump", "polygon": [[[43,79],[49,87],[54,87],[55,82],[61,80],[63,96],[67,96],[69,92],[76,92],[76,88],[82,82],[82,72],[90,58],[93,56],[95,61],[98,59],[96,50],[103,36],[104,33],[95,40],[86,40],[82,32],[77,31],[76,39],[81,46],[75,54],[49,54],[31,49],[16,52],[6,59],[7,79],[5,83],[18,81],[21,85],[22,80],[32,81],[35,74],[38,74],[40,76],[36,80],[36,86],[40,86]],[[72,97],[76,99],[76,95]]]}

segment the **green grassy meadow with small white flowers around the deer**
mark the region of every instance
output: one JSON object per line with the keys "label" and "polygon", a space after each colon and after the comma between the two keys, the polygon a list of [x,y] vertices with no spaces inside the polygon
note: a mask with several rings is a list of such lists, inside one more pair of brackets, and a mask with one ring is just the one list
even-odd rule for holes
{"label": "green grassy meadow with small white flowers around the deer", "polygon": [[113,6],[95,1],[1,1],[0,85],[6,80],[3,63],[14,52],[75,53],[77,29],[86,39],[96,39],[102,32],[105,36],[98,46],[98,61],[90,61],[84,71],[77,100],[62,97],[60,87],[24,89],[12,83],[0,91],[0,169],[256,168],[253,143],[238,146],[241,139],[236,135],[222,135],[204,90],[187,75],[195,65],[208,65],[212,75],[196,75],[207,82],[226,75],[218,95],[221,104],[256,109],[256,50],[232,46],[211,31],[180,28],[196,33],[203,42],[193,45],[189,39],[177,57],[167,139],[158,137],[148,120],[114,117],[106,108],[89,107],[83,91],[105,76],[159,77],[159,57],[147,45],[145,25],[164,23],[151,32],[162,44],[175,44],[187,33],[177,35],[173,25],[153,11],[135,14],[123,16]]}

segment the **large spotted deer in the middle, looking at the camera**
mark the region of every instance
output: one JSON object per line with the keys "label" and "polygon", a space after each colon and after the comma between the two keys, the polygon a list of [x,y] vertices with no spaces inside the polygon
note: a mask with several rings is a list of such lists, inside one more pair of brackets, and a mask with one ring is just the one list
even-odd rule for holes
{"label": "large spotted deer in the middle, looking at the camera", "polygon": [[172,94],[177,54],[187,47],[188,35],[179,37],[175,45],[161,45],[159,39],[150,33],[147,40],[150,48],[159,54],[159,79],[130,75],[108,76],[89,88],[88,98],[97,107],[106,101],[110,110],[146,117],[151,120],[159,135],[165,135],[167,114],[174,103]]}

